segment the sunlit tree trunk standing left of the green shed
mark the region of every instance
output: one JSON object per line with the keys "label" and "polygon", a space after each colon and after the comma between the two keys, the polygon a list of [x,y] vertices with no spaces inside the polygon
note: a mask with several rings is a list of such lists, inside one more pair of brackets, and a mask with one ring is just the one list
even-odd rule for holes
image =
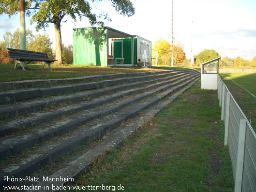
{"label": "sunlit tree trunk standing left of the green shed", "polygon": [[62,47],[61,47],[61,34],[60,34],[60,23],[55,23],[55,53],[56,53],[56,61],[57,64],[62,64]]}

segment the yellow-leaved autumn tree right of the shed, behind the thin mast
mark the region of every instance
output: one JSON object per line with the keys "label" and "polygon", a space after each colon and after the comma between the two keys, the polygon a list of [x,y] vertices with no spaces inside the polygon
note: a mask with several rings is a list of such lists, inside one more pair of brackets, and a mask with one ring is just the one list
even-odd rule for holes
{"label": "yellow-leaved autumn tree right of the shed, behind the thin mast", "polygon": [[[171,44],[169,44],[165,39],[160,38],[153,44],[153,49],[158,51],[158,61],[160,65],[170,65],[171,64]],[[185,53],[181,47],[173,46],[173,62],[175,64],[183,62],[186,59]]]}

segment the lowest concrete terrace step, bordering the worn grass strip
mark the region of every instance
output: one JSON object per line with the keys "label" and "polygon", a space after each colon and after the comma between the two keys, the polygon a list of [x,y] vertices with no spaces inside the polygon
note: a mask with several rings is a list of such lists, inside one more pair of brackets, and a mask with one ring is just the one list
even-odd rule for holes
{"label": "lowest concrete terrace step, bordering the worn grass strip", "polygon": [[[196,80],[197,81],[197,80]],[[69,156],[63,158],[60,163],[53,163],[47,169],[41,172],[35,172],[30,177],[38,178],[38,182],[23,182],[20,184],[27,186],[42,187],[49,191],[56,191],[52,189],[52,186],[65,186],[69,185],[66,181],[43,181],[43,178],[73,178],[74,180],[81,174],[85,174],[91,164],[95,162],[98,157],[105,155],[109,150],[118,148],[122,145],[123,141],[128,138],[137,129],[140,129],[141,125],[148,123],[157,113],[159,113],[167,104],[171,103],[177,98],[183,91],[189,89],[195,81],[180,89],[178,92],[172,94],[168,99],[161,100],[153,107],[146,109],[143,113],[139,113],[135,118],[131,118],[128,122],[122,123],[119,128],[109,132],[105,135],[104,140],[100,139],[94,142],[92,145],[83,146],[83,148],[77,148],[77,150]],[[63,163],[65,162],[65,163]],[[54,170],[55,169],[55,170]],[[46,172],[46,173],[45,173]]]}

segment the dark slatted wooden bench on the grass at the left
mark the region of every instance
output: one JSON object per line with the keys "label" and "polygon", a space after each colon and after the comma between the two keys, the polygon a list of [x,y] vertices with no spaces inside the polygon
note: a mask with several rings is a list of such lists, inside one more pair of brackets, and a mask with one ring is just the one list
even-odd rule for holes
{"label": "dark slatted wooden bench on the grass at the left", "polygon": [[44,69],[45,64],[49,66],[49,70],[52,71],[51,69],[51,63],[56,61],[48,58],[47,53],[42,53],[42,52],[35,52],[35,51],[26,51],[26,50],[20,50],[20,49],[11,49],[8,48],[8,52],[10,55],[10,58],[15,59],[15,66],[14,70],[19,63],[22,67],[23,71],[26,71],[24,63],[25,61],[42,61],[42,69]]}

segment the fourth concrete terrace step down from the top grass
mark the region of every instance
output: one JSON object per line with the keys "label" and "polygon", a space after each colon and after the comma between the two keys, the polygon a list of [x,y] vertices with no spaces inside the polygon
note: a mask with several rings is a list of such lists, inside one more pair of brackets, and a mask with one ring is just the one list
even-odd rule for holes
{"label": "fourth concrete terrace step down from the top grass", "polygon": [[[196,72],[194,72],[196,73]],[[194,74],[191,73],[191,74]],[[181,78],[186,77],[189,74],[177,74],[174,76],[170,76],[170,77],[166,77],[166,78],[160,78],[157,79],[157,82],[159,83],[155,83],[155,80],[151,80],[151,81],[145,81],[145,82],[141,82],[141,83],[136,83],[136,84],[129,84],[127,85],[122,85],[122,86],[118,86],[115,88],[112,88],[112,91],[108,89],[108,91],[105,90],[97,90],[97,92],[105,92],[108,93],[107,96],[101,96],[99,98],[96,99],[92,99],[86,102],[82,102],[82,103],[70,103],[70,104],[65,104],[63,107],[58,107],[58,108],[53,108],[53,109],[48,109],[48,111],[40,111],[40,112],[34,112],[32,116],[27,117],[27,116],[23,116],[23,117],[19,117],[19,118],[15,118],[14,120],[3,120],[2,124],[0,125],[0,136],[6,136],[6,135],[10,135],[11,133],[15,133],[15,131],[21,131],[22,129],[25,128],[29,128],[29,127],[33,127],[34,125],[38,125],[41,123],[44,123],[46,121],[52,120],[54,118],[59,118],[61,116],[67,116],[67,115],[71,115],[73,113],[79,112],[81,110],[86,110],[86,109],[90,109],[91,107],[96,107],[96,106],[100,106],[103,105],[105,103],[111,102],[111,101],[115,101],[117,99],[120,99],[124,96],[127,95],[132,95],[132,94],[136,94],[139,91],[145,91],[145,90],[149,90],[149,89],[154,89],[157,86],[160,85],[165,85],[165,84],[169,84],[175,81],[178,81]],[[154,83],[154,84],[152,84]],[[139,87],[144,85],[144,87]],[[147,86],[145,86],[147,85]],[[127,90],[127,87],[129,87],[130,89]],[[134,88],[134,89],[132,89]],[[115,94],[111,94],[114,91],[117,90],[123,90],[122,92],[118,92]],[[111,94],[111,95],[109,95]],[[87,96],[87,98],[89,98]],[[62,100],[63,101],[63,100]],[[62,103],[63,105],[63,103]],[[60,105],[60,106],[62,106]],[[35,106],[35,103],[33,103],[33,106]],[[36,107],[39,108],[39,107]]]}

